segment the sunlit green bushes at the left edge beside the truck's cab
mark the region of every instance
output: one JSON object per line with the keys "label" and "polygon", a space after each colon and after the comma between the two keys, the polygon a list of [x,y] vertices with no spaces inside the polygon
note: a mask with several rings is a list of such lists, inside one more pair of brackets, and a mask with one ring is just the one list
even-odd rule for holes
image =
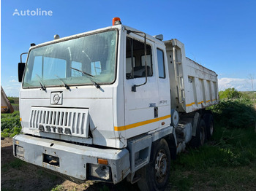
{"label": "sunlit green bushes at the left edge beside the truck's cab", "polygon": [[1,114],[1,137],[13,137],[20,131],[20,114],[18,111],[12,114]]}

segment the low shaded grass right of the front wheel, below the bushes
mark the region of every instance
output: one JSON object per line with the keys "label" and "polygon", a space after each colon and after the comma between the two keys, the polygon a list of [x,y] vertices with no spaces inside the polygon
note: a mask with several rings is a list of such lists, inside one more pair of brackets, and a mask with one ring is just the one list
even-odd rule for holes
{"label": "low shaded grass right of the front wheel, below the bushes", "polygon": [[173,190],[255,190],[254,128],[216,125],[213,139],[200,149],[188,149],[172,164]]}

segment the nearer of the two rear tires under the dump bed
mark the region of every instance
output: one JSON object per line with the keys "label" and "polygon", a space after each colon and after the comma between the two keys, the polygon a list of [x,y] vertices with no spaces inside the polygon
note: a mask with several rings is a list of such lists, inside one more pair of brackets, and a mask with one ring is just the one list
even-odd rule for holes
{"label": "nearer of the two rear tires under the dump bed", "polygon": [[192,136],[190,145],[192,147],[200,147],[206,142],[206,122],[200,119],[197,123],[197,132]]}

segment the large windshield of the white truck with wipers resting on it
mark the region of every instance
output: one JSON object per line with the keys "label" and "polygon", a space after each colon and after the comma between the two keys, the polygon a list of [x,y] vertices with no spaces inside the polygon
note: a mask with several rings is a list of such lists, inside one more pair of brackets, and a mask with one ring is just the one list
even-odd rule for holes
{"label": "large windshield of the white truck with wipers resting on it", "polygon": [[116,76],[116,34],[106,31],[31,50],[23,87],[112,83]]}

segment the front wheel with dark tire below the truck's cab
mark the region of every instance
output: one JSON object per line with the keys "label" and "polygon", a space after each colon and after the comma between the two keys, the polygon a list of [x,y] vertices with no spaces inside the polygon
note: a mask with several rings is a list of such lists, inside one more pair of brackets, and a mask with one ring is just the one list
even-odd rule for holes
{"label": "front wheel with dark tire below the truck's cab", "polygon": [[170,150],[165,139],[152,145],[151,160],[139,170],[138,187],[142,191],[165,190],[170,176]]}

